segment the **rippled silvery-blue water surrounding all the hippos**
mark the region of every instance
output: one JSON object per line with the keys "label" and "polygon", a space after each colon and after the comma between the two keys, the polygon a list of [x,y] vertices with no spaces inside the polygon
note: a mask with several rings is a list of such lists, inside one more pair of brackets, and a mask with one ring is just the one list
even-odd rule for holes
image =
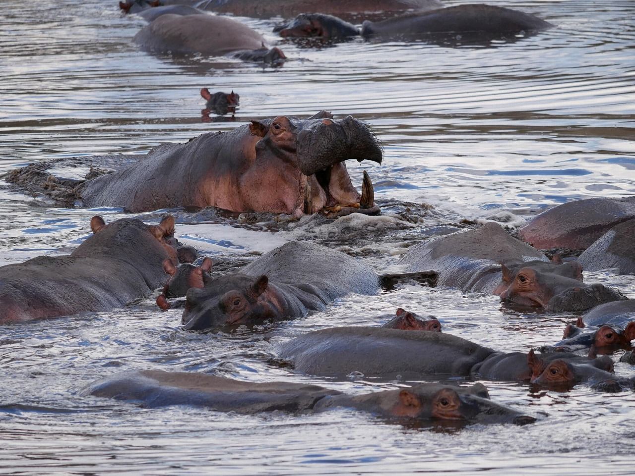
{"label": "rippled silvery-blue water surrounding all the hippos", "polygon": [[[449,4],[455,4],[448,2]],[[281,113],[330,110],[370,122],[384,142],[368,167],[387,215],[279,226],[205,210],[177,213],[177,234],[240,264],[287,240],[310,239],[384,269],[439,224],[463,218],[518,226],[556,203],[635,194],[635,3],[490,2],[558,25],[479,46],[425,42],[336,46],[281,42],[293,58],[261,68],[225,58],[177,61],[130,43],[144,22],[115,1],[3,0],[0,16],[0,170],[37,160],[142,154],[164,141],[229,130]],[[270,20],[244,19],[271,41]],[[234,117],[202,122],[199,89],[234,89]],[[411,222],[398,213],[410,207]],[[430,205],[431,207],[429,207]],[[0,190],[0,262],[65,254],[88,221],[117,209],[60,209]],[[161,212],[140,215],[156,222]],[[414,217],[414,218],[413,218]],[[589,281],[635,296],[635,277]],[[570,315],[504,309],[495,297],[403,286],[352,295],[295,322],[199,335],[152,299],[110,313],[3,326],[0,472],[41,474],[389,474],[487,471],[630,474],[635,396],[586,387],[545,392],[485,382],[493,399],[538,416],[526,427],[402,427],[354,411],[239,416],[197,408],[141,409],[80,397],[118,371],[200,371],[252,382],[315,382],[347,392],[403,382],[333,382],[268,363],[272,345],[335,325],[380,324],[396,307],[438,316],[445,331],[502,351],[555,342]],[[615,356],[617,360],[619,354]],[[627,364],[617,373],[632,375]]]}

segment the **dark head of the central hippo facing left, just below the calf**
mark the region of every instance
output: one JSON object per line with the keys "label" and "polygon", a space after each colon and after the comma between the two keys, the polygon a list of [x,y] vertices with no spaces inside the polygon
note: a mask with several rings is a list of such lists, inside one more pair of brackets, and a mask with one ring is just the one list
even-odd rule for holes
{"label": "dark head of the central hippo facing left, just below the calf", "polygon": [[190,288],[182,318],[185,329],[204,330],[279,318],[277,299],[268,288],[269,280],[264,274],[232,274],[211,281],[203,289]]}

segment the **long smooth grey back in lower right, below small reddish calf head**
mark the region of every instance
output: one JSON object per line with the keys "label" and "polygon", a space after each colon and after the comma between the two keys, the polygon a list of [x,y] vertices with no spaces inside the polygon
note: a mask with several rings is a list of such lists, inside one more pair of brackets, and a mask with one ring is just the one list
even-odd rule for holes
{"label": "long smooth grey back in lower right, below small reddish calf head", "polygon": [[494,351],[450,334],[373,327],[338,327],[279,345],[277,355],[311,375],[418,378],[469,375]]}

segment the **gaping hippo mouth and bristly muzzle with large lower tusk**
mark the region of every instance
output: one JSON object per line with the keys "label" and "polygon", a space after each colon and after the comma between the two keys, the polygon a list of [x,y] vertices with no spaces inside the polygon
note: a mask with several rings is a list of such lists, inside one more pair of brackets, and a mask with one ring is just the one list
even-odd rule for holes
{"label": "gaping hippo mouth and bristly muzzle with large lower tusk", "polygon": [[379,213],[366,170],[360,195],[345,165],[345,160],[351,159],[381,164],[382,148],[368,125],[351,116],[340,121],[328,117],[315,121],[298,133],[297,158],[302,172],[298,211],[321,212],[328,217]]}

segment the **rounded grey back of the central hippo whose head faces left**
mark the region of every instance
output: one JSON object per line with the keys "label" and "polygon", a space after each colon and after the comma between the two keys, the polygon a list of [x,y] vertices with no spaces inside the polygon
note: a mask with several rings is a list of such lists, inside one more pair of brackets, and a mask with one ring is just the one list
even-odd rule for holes
{"label": "rounded grey back of the central hippo whose head faces left", "polygon": [[290,241],[262,255],[241,270],[250,276],[266,274],[269,281],[310,284],[328,300],[348,293],[373,295],[379,281],[372,267],[339,251],[313,243]]}

